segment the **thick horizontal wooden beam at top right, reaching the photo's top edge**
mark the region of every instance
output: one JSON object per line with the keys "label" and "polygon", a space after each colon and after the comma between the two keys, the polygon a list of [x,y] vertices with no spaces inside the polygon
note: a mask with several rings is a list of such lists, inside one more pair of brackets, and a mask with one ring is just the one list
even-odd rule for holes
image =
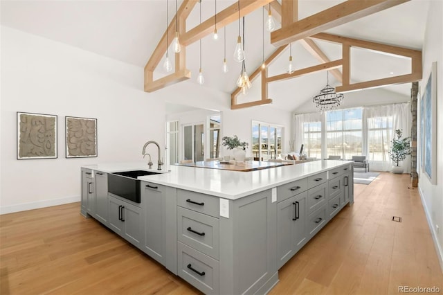
{"label": "thick horizontal wooden beam at top right, reaching the photo's top edge", "polygon": [[271,32],[271,44],[289,44],[407,1],[410,0],[347,0]]}

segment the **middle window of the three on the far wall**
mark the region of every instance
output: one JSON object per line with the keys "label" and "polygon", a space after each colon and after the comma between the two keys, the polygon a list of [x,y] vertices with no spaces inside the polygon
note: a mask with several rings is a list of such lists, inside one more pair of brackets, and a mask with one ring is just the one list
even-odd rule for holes
{"label": "middle window of the three on the far wall", "polygon": [[327,157],[351,159],[362,154],[362,109],[327,111]]}

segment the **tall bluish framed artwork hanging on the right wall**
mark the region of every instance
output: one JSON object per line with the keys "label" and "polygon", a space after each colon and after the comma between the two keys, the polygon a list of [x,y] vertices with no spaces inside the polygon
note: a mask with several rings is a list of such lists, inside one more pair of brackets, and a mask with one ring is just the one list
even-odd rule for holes
{"label": "tall bluish framed artwork hanging on the right wall", "polygon": [[437,62],[433,62],[431,73],[423,93],[423,164],[424,175],[431,184],[437,184]]}

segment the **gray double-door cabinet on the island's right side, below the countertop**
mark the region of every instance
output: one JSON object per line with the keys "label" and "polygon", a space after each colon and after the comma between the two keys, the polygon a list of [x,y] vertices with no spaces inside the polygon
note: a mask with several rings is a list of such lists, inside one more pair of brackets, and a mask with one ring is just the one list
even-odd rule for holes
{"label": "gray double-door cabinet on the island's right side, below the countertop", "polygon": [[307,192],[277,204],[278,268],[282,267],[305,244]]}

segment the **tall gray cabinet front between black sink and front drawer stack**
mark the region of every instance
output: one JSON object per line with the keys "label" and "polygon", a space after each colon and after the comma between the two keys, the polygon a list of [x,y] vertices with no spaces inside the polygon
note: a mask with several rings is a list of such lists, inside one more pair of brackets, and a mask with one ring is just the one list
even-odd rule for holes
{"label": "tall gray cabinet front between black sink and front drawer stack", "polygon": [[143,251],[177,274],[177,189],[141,181]]}

